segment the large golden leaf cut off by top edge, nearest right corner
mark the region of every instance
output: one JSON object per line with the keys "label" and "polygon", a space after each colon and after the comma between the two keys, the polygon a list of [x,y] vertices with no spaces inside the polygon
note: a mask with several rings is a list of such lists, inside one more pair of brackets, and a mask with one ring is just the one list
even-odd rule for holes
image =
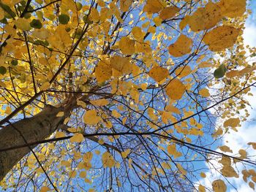
{"label": "large golden leaf cut off by top edge, nearest right corner", "polygon": [[246,11],[246,0],[220,0],[219,7],[225,17],[241,17]]}

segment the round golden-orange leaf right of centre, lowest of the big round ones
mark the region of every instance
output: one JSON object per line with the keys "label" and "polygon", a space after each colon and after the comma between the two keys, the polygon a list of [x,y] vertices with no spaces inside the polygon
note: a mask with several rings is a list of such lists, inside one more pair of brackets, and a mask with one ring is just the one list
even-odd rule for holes
{"label": "round golden-orange leaf right of centre, lowest of the big round ones", "polygon": [[173,79],[170,80],[165,90],[170,99],[178,100],[182,98],[186,88],[180,80]]}

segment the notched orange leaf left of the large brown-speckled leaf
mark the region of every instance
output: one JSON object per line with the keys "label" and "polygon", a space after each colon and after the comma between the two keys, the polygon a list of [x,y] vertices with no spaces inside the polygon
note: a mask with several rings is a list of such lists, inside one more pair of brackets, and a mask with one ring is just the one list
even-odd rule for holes
{"label": "notched orange leaf left of the large brown-speckled leaf", "polygon": [[184,34],[181,34],[176,42],[169,46],[169,53],[174,57],[180,57],[182,55],[190,53],[192,44],[192,39]]}

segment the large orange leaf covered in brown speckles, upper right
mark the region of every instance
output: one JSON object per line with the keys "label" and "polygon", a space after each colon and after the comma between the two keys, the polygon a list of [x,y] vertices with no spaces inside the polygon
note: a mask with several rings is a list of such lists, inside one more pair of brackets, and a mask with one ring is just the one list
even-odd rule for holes
{"label": "large orange leaf covered in brown speckles, upper right", "polygon": [[235,44],[240,31],[240,28],[219,26],[208,32],[203,38],[203,42],[212,51],[225,50],[225,48],[232,47]]}

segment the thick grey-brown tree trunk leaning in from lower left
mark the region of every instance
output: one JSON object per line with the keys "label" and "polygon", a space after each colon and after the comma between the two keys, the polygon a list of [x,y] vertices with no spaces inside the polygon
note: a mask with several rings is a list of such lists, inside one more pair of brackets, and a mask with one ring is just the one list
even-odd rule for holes
{"label": "thick grey-brown tree trunk leaning in from lower left", "polygon": [[[47,105],[42,112],[34,115],[34,117],[18,120],[16,123],[1,128],[0,148],[24,145],[26,142],[42,141],[49,137],[50,134],[53,134],[63,124],[64,118],[69,115],[73,106],[74,100],[72,104],[68,104],[68,107]],[[61,111],[64,111],[65,115],[57,118],[56,115]],[[26,142],[24,139],[26,139]],[[31,148],[34,147],[36,145],[31,146]],[[30,151],[29,147],[22,147],[16,150],[0,152],[0,181]]]}

